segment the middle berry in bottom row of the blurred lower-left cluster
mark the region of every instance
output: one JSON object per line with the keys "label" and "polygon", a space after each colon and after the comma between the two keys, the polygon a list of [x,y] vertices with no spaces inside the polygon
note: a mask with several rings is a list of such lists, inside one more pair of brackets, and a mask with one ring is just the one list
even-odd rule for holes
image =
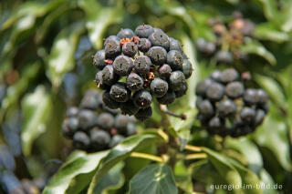
{"label": "middle berry in bottom row of the blurred lower-left cluster", "polygon": [[110,144],[110,134],[99,128],[93,128],[90,131],[90,143],[92,147],[97,150],[108,148]]}

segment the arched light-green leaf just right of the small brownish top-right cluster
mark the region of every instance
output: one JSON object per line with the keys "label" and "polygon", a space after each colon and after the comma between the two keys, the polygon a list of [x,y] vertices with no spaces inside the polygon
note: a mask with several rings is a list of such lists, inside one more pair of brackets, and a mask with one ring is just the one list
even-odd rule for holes
{"label": "arched light-green leaf just right of the small brownish top-right cluster", "polygon": [[244,46],[241,46],[241,51],[245,54],[255,54],[257,56],[262,56],[265,58],[271,65],[276,65],[276,58],[271,52],[266,50],[266,47],[255,39],[248,39]]}

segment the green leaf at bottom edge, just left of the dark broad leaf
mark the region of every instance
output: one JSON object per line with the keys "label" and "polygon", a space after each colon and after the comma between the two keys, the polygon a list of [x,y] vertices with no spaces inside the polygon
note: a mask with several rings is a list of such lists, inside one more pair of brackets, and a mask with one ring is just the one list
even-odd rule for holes
{"label": "green leaf at bottom edge, just left of the dark broad leaf", "polygon": [[95,193],[108,194],[110,190],[120,189],[124,184],[125,178],[121,174],[121,169],[124,167],[124,163],[120,162],[99,181],[96,186]]}

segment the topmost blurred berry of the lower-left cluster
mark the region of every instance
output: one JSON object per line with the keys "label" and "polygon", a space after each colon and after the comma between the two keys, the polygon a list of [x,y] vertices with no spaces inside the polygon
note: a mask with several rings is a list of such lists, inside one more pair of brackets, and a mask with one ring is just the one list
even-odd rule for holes
{"label": "topmost blurred berry of the lower-left cluster", "polygon": [[99,92],[95,89],[89,89],[80,102],[81,109],[96,110],[100,105]]}

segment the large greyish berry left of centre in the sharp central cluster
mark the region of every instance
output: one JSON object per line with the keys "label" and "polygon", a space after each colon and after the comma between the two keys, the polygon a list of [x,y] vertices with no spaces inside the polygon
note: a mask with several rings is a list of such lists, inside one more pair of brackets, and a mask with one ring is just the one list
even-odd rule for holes
{"label": "large greyish berry left of centre in the sharp central cluster", "polygon": [[133,61],[129,56],[118,56],[113,62],[114,72],[122,77],[128,76],[133,67]]}

